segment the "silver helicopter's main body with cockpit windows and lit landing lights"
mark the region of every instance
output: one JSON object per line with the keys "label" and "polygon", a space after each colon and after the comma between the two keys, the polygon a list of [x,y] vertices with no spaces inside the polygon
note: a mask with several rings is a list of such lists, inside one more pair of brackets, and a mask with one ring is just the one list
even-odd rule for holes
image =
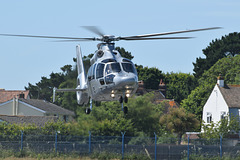
{"label": "silver helicopter's main body with cockpit windows and lit landing lights", "polygon": [[138,76],[133,62],[121,57],[113,43],[101,43],[90,60],[87,88],[94,101],[119,100],[130,97],[138,87]]}

